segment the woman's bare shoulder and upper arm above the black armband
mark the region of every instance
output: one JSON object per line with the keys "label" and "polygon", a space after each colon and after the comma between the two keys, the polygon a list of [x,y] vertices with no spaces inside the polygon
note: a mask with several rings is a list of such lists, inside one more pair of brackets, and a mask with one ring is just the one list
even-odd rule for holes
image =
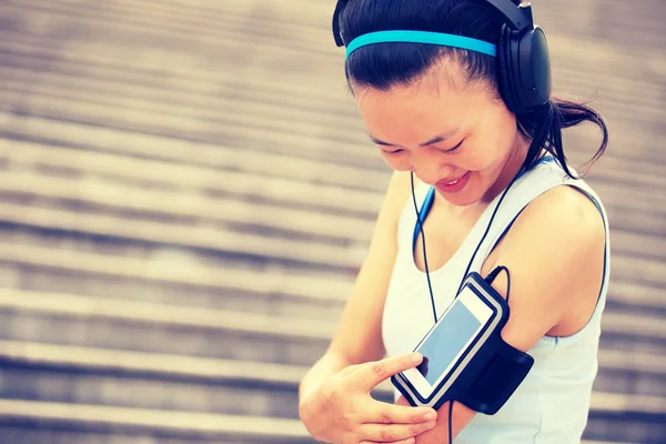
{"label": "woman's bare shoulder and upper arm above the black armband", "polygon": [[[599,210],[577,189],[556,186],[525,208],[484,265],[484,272],[500,264],[511,271],[507,341],[528,350],[546,333],[566,336],[586,324],[603,280],[605,240]],[[495,285],[504,292],[506,281]]]}

